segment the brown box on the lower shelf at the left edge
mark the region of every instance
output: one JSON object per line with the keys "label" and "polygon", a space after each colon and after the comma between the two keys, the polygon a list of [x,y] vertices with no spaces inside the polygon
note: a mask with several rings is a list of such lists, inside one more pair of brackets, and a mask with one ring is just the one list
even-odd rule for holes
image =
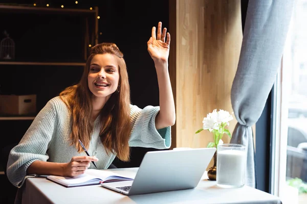
{"label": "brown box on the lower shelf at the left edge", "polygon": [[30,115],[36,113],[36,95],[0,95],[0,114]]}

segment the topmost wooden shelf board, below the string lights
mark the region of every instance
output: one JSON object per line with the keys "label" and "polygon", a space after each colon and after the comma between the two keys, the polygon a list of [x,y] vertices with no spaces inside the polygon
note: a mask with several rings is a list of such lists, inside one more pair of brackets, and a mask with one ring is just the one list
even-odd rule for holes
{"label": "topmost wooden shelf board, below the string lights", "polygon": [[65,9],[65,8],[50,8],[50,7],[39,7],[39,6],[13,6],[13,5],[4,5],[0,4],[1,12],[24,12],[24,13],[44,13],[44,14],[58,14],[58,13],[67,13],[67,14],[96,14],[96,7],[93,7],[93,10],[89,9]]}

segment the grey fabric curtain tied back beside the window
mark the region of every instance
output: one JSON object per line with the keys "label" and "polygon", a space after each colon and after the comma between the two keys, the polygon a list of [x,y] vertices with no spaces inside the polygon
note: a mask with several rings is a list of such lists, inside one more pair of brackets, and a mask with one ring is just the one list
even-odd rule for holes
{"label": "grey fabric curtain tied back beside the window", "polygon": [[[244,0],[242,0],[244,1]],[[238,121],[231,143],[247,148],[245,183],[255,187],[252,125],[259,119],[280,67],[295,0],[249,0],[242,48],[231,88]]]}

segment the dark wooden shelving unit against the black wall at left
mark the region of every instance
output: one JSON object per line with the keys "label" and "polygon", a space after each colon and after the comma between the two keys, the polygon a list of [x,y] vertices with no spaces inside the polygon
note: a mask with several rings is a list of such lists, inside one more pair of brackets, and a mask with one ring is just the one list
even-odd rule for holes
{"label": "dark wooden shelving unit against the black wall at left", "polygon": [[[93,7],[90,9],[67,9],[67,8],[49,8],[49,7],[38,7],[38,6],[12,6],[12,5],[1,5],[0,4],[0,13],[9,15],[12,13],[17,14],[39,14],[42,16],[44,14],[49,15],[69,15],[69,16],[84,16],[86,19],[90,19],[91,22],[91,31],[93,34],[92,42],[98,44],[98,7]],[[1,25],[0,25],[1,27]],[[92,29],[93,28],[93,29]],[[83,32],[83,31],[82,31]],[[84,38],[85,39],[85,38]],[[0,60],[0,73],[2,70],[6,69],[6,66],[16,65],[16,66],[85,66],[85,60],[87,58],[89,42],[84,40],[84,44],[81,45],[84,56],[83,59],[77,60],[77,62],[61,62],[61,61],[44,61],[44,60],[33,60],[29,59],[29,61],[1,61]],[[27,83],[27,82],[26,82]],[[50,98],[51,99],[51,98]],[[38,110],[39,111],[39,110]],[[0,121],[16,121],[16,120],[33,120],[35,116],[1,116]],[[27,124],[27,123],[24,123]],[[0,171],[0,175],[4,174],[4,171]]]}

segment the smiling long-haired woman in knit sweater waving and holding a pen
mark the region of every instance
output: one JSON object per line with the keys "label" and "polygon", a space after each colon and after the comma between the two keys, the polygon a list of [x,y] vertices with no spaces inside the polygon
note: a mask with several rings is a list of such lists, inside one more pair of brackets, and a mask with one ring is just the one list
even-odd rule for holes
{"label": "smiling long-haired woman in knit sweater waving and holding a pen", "polygon": [[[160,106],[130,104],[123,54],[114,43],[95,45],[80,82],[48,101],[9,155],[7,175],[21,187],[27,177],[76,176],[106,169],[115,157],[129,161],[129,146],[170,147],[176,120],[168,74],[170,34],[153,27],[147,50],[155,63]],[[86,156],[82,141],[92,156]]]}

